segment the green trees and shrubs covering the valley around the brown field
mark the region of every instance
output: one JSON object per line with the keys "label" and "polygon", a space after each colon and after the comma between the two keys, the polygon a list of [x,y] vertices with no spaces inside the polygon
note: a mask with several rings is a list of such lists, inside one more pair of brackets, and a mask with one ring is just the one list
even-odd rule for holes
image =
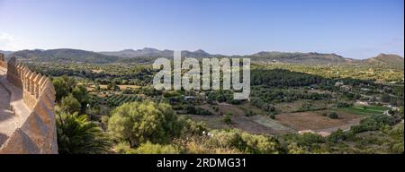
{"label": "green trees and shrubs covering the valley around the brown field", "polygon": [[[403,153],[403,71],[254,64],[250,99],[234,100],[231,90],[154,90],[156,71],[148,64],[30,66],[56,88],[60,153]],[[237,127],[240,113],[278,123],[285,113],[309,112],[362,120],[328,136]],[[219,124],[193,116],[217,117]]]}

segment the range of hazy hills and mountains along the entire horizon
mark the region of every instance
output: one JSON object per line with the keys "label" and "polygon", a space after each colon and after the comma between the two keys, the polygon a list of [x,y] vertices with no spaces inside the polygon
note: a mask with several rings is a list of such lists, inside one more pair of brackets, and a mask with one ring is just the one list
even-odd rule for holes
{"label": "range of hazy hills and mountains along the entire horizon", "polygon": [[[62,62],[62,63],[153,63],[157,57],[173,57],[173,50],[158,50],[156,48],[145,47],[133,50],[124,49],[121,51],[93,52],[80,49],[49,49],[49,50],[21,50],[21,51],[1,51],[6,57],[16,56],[21,61],[36,62]],[[211,55],[202,49],[196,51],[182,51],[185,57],[224,57],[223,55]],[[262,51],[249,56],[229,56],[229,57],[249,57],[253,63],[289,63],[289,64],[375,64],[380,66],[391,66],[393,68],[404,68],[404,58],[397,55],[380,54],[364,60],[357,60],[338,56],[336,54],[310,53],[289,53],[276,51]]]}

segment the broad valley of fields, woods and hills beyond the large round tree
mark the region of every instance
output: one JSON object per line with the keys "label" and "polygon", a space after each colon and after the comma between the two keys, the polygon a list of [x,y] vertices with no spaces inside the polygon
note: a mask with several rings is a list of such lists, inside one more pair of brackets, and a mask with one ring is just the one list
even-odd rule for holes
{"label": "broad valley of fields, woods and hills beyond the large round tree", "polygon": [[[238,100],[232,99],[232,90],[155,90],[152,79],[158,71],[151,63],[157,56],[165,57],[164,52],[124,52],[23,50],[8,56],[50,76],[57,90],[57,112],[86,115],[110,138],[112,145],[105,148],[109,153],[403,152],[403,140],[395,136],[403,135],[403,65],[398,64],[402,57],[382,54],[354,61],[318,53],[243,56],[253,63],[251,94]],[[211,56],[202,52],[187,54]],[[117,111],[146,106],[145,102],[173,109],[178,125],[184,127],[180,133],[166,133],[175,139],[156,140],[153,130],[147,138],[130,142],[113,136]],[[379,135],[375,142],[359,142],[371,139],[369,133]],[[250,151],[231,142],[218,143],[230,135],[239,135],[247,144],[250,138],[276,146],[266,150],[250,145]],[[380,145],[379,139],[387,143]]]}

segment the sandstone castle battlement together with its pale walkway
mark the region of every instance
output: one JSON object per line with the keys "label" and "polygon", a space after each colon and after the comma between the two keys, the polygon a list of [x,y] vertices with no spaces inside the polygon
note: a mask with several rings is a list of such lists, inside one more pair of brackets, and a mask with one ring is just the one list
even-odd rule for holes
{"label": "sandstone castle battlement together with its pale walkway", "polygon": [[[9,121],[4,119],[4,125],[0,127],[0,134],[5,135],[5,141],[0,138],[0,153],[58,153],[52,82],[17,63],[14,56],[6,63],[0,54],[0,69],[3,71],[0,86],[9,93],[8,97],[4,95],[0,99],[3,102],[9,99],[12,112],[7,118],[0,114],[0,125],[2,118]],[[3,111],[8,112],[7,109]]]}

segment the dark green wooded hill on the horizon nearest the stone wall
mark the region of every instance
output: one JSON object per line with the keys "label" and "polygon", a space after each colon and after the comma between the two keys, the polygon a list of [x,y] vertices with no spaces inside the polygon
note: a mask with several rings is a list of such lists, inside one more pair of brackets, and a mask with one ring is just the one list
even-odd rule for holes
{"label": "dark green wooded hill on the horizon nearest the stone wall", "polygon": [[106,56],[92,51],[79,49],[49,49],[49,50],[22,50],[16,51],[9,56],[15,56],[19,60],[37,62],[73,62],[108,64],[117,61],[117,56]]}

